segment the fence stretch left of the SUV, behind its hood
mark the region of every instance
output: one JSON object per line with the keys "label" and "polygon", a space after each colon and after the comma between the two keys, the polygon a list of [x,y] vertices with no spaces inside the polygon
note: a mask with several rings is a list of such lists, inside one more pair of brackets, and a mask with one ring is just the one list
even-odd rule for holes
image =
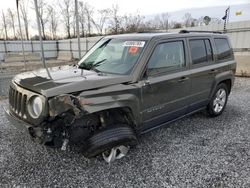
{"label": "fence stretch left of the SUV, behind its hood", "polygon": [[[81,38],[81,55],[100,38]],[[79,58],[77,39],[43,41],[43,47],[48,67],[72,64]],[[24,41],[24,52],[26,62],[21,41],[0,41],[0,96],[8,95],[9,84],[15,74],[42,67],[39,41]]]}

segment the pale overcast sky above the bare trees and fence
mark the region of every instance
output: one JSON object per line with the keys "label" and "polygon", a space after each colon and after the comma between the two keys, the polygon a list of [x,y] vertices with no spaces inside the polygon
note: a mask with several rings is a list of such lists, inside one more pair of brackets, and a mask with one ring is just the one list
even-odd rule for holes
{"label": "pale overcast sky above the bare trees and fence", "polygon": [[[22,1],[22,0],[19,0]],[[35,11],[31,9],[33,0],[28,1],[29,7],[28,19],[30,21],[30,33],[37,33],[37,23]],[[47,4],[60,4],[63,0],[44,0]],[[72,0],[74,2],[74,0]],[[193,18],[200,18],[207,15],[212,18],[222,18],[225,9],[232,6],[230,16],[231,21],[250,20],[250,0],[78,0],[89,3],[95,10],[111,8],[112,5],[118,5],[119,15],[140,14],[145,19],[151,19],[156,14],[168,12],[170,21],[181,22],[183,15],[187,12],[192,14]],[[243,5],[244,4],[244,5]],[[245,6],[247,4],[247,6]],[[210,8],[209,8],[210,7]],[[236,8],[235,8],[236,7]],[[240,7],[239,10],[237,7]],[[8,8],[16,10],[16,0],[0,0],[0,11],[6,12]],[[230,10],[231,10],[230,9]],[[235,11],[242,11],[242,16],[235,16]],[[1,15],[1,14],[0,14]],[[1,21],[1,18],[0,18]],[[58,34],[65,34],[64,28],[59,24]],[[0,32],[3,29],[0,28]]]}

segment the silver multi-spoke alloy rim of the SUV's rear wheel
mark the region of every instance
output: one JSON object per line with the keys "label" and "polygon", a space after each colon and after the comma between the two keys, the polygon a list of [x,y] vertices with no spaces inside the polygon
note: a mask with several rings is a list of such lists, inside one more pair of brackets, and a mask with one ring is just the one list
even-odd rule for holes
{"label": "silver multi-spoke alloy rim of the SUV's rear wheel", "polygon": [[213,108],[216,113],[220,113],[226,103],[226,91],[225,89],[219,89],[215,95],[213,102]]}

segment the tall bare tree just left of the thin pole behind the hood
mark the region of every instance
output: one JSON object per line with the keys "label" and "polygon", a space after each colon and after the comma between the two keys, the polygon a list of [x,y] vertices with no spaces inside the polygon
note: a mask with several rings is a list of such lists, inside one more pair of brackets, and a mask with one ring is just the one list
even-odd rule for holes
{"label": "tall bare tree just left of the thin pole behind the hood", "polygon": [[60,2],[62,2],[59,4],[59,6],[61,8],[61,15],[62,15],[64,26],[67,32],[67,38],[71,38],[71,34],[70,34],[70,25],[71,25],[71,20],[72,20],[71,5],[73,3],[72,3],[72,0],[63,0]]}

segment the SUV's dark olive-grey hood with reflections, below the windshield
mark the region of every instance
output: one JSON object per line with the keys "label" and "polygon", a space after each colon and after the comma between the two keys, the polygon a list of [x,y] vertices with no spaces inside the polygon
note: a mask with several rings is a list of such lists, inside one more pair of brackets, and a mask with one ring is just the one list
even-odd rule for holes
{"label": "SUV's dark olive-grey hood with reflections, below the windshield", "polygon": [[49,68],[49,72],[52,78],[48,77],[45,69],[40,69],[18,74],[13,80],[19,86],[46,97],[132,81],[130,75],[98,74],[94,71],[81,70],[77,66],[70,65]]}

